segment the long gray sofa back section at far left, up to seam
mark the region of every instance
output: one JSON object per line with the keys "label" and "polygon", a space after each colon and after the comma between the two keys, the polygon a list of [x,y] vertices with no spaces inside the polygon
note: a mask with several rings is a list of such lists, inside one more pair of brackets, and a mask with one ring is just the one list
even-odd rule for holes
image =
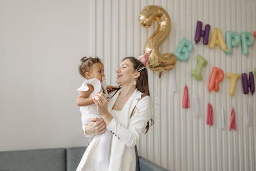
{"label": "long gray sofa back section at far left, up to seam", "polygon": [[66,170],[66,148],[0,152],[0,170],[63,171]]}

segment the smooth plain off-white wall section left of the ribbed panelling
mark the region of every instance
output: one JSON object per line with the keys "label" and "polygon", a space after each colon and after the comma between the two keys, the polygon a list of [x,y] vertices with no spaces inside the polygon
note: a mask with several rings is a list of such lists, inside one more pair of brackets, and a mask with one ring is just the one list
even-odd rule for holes
{"label": "smooth plain off-white wall section left of the ribbed panelling", "polygon": [[90,1],[0,1],[0,150],[87,145],[77,92]]}

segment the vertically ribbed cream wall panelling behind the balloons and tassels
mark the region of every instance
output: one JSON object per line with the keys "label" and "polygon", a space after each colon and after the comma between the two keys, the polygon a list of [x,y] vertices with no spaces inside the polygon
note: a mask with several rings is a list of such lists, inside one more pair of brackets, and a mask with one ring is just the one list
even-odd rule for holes
{"label": "vertically ribbed cream wall panelling behind the balloons and tassels", "polygon": [[[219,46],[210,49],[202,39],[195,44],[197,20],[226,31],[256,31],[256,1],[240,0],[148,0],[148,1],[91,1],[91,54],[103,59],[108,84],[116,84],[117,69],[125,56],[139,56],[148,37],[157,29],[139,25],[140,11],[147,5],[160,5],[172,20],[172,30],[160,46],[161,53],[174,53],[182,38],[193,43],[194,50],[187,61],[177,61],[176,67],[164,73],[161,79],[148,70],[155,124],[138,144],[139,155],[170,170],[256,170],[256,95],[244,95],[242,81],[237,81],[233,98],[229,96],[229,79],[225,76],[218,93],[208,93],[212,67],[224,73],[249,73],[256,68],[256,42],[249,48],[249,56],[242,55],[242,46],[234,47],[230,56]],[[203,67],[203,79],[194,79],[190,70],[197,66],[196,57],[208,60]],[[170,76],[176,77],[177,91],[171,92]],[[200,117],[194,118],[191,108],[182,108],[185,84],[190,106],[198,96]],[[214,110],[214,125],[206,124],[207,104]],[[253,125],[246,126],[247,105],[252,109]],[[220,129],[221,106],[224,109],[225,130]],[[238,131],[229,131],[230,113],[234,107]]]}

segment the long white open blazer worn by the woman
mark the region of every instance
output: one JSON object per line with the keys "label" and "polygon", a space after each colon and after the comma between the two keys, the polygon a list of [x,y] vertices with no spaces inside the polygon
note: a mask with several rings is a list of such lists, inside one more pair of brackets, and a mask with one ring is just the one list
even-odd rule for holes
{"label": "long white open blazer worn by the woman", "polygon": [[[110,112],[119,93],[120,90],[108,103],[108,110]],[[151,118],[151,98],[150,96],[143,98],[141,96],[142,93],[136,89],[123,106],[123,117],[119,117],[119,120],[113,118],[107,127],[112,132],[109,171],[133,171],[136,169],[134,146],[139,142],[139,138],[144,133],[146,124]],[[130,117],[132,112],[133,116]],[[99,148],[97,147],[99,140],[99,136],[96,135],[89,144],[76,169],[77,171],[101,170],[98,160]]]}

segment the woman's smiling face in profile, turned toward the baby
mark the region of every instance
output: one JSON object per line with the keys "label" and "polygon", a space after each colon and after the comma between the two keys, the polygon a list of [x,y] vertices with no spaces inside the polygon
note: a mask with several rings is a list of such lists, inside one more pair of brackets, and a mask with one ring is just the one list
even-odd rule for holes
{"label": "woman's smiling face in profile, turned toward the baby", "polygon": [[119,68],[116,70],[117,83],[121,86],[129,84],[134,81],[134,65],[130,59],[125,59],[121,62]]}

